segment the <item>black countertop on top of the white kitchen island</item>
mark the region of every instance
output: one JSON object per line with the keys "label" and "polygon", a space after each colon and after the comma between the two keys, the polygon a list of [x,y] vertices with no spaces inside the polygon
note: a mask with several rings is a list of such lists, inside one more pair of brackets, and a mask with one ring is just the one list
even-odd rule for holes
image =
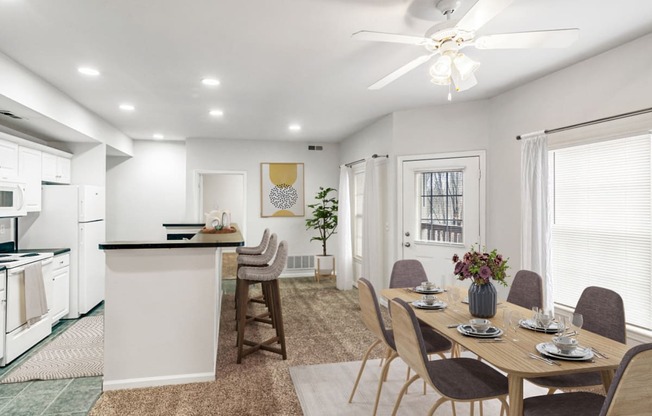
{"label": "black countertop on top of the white kitchen island", "polygon": [[201,248],[201,247],[239,247],[244,245],[244,238],[240,228],[231,224],[236,229],[234,233],[210,234],[197,233],[190,240],[167,241],[109,241],[99,245],[100,250],[136,250],[160,248]]}

